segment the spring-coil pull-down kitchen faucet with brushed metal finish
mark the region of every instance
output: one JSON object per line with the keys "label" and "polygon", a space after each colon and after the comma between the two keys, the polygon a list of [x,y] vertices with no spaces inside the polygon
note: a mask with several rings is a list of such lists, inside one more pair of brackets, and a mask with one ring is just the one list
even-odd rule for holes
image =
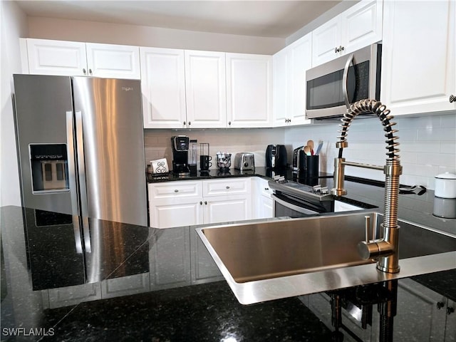
{"label": "spring-coil pull-down kitchen faucet with brushed metal finish", "polygon": [[[368,165],[358,162],[347,162],[342,157],[343,148],[348,147],[346,140],[348,128],[351,122],[358,114],[373,113],[380,119],[386,137],[386,165]],[[399,195],[399,176],[402,174],[402,167],[399,161],[398,137],[394,130],[395,123],[391,122],[393,115],[390,110],[386,109],[380,101],[377,100],[360,100],[353,103],[341,119],[341,133],[337,138],[336,147],[338,148],[338,157],[334,159],[334,188],[331,194],[335,196],[346,195],[343,188],[345,166],[366,167],[374,170],[383,170],[385,173],[385,201],[383,215],[383,237],[381,239],[362,241],[358,243],[358,252],[363,259],[377,259],[377,269],[388,273],[397,273],[400,269],[398,261],[399,246],[399,226],[398,226],[398,195]],[[367,237],[366,237],[367,240]]]}

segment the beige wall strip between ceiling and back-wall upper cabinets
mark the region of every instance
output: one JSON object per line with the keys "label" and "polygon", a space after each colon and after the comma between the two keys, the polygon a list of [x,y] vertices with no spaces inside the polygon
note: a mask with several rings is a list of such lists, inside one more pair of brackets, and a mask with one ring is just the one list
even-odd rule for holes
{"label": "beige wall strip between ceiling and back-wall upper cabinets", "polygon": [[273,54],[285,46],[284,38],[239,36],[95,21],[31,17],[28,18],[28,26],[28,38],[62,41],[259,54]]}

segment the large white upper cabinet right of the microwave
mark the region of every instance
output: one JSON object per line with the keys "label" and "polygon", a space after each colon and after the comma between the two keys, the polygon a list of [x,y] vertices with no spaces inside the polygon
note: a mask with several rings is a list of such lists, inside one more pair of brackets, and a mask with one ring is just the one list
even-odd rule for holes
{"label": "large white upper cabinet right of the microwave", "polygon": [[380,98],[393,115],[455,110],[456,3],[385,1]]}

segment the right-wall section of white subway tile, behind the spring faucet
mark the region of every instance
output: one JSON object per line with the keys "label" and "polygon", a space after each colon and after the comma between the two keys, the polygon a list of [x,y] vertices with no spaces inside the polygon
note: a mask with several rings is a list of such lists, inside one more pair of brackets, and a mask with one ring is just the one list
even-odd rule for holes
{"label": "right-wall section of white subway tile, behind the spring faucet", "polygon": [[[394,114],[394,113],[392,113]],[[400,183],[424,185],[435,189],[435,176],[442,172],[456,173],[456,115],[429,113],[415,118],[396,117],[395,129],[399,137],[400,163],[403,175]],[[332,173],[336,157],[339,123],[291,128],[285,134],[285,143],[299,147],[309,139],[323,140],[320,168]],[[386,143],[383,126],[378,118],[356,118],[348,130],[348,148],[343,157],[351,162],[385,165]],[[383,172],[359,167],[346,167],[346,175],[385,180]]]}

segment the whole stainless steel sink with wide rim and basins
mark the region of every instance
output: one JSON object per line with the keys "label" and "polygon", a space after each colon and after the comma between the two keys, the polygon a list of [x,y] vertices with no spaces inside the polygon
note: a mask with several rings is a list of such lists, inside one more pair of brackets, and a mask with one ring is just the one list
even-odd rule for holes
{"label": "whole stainless steel sink with wide rim and basins", "polygon": [[[383,221],[378,212],[203,227],[197,232],[243,304],[429,273],[423,267],[434,262],[431,271],[456,268],[456,236],[399,221],[399,258],[414,262],[401,262],[398,274],[376,271],[374,260],[358,255],[357,244],[366,239],[366,215],[378,237]],[[444,261],[429,260],[435,254]]]}

